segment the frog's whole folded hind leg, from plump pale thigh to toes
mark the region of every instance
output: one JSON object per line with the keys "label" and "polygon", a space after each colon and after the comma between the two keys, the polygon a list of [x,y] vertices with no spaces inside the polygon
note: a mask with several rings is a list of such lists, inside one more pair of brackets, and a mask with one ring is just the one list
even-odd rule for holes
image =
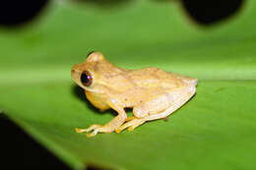
{"label": "frog's whole folded hind leg, from plump pale thigh to toes", "polygon": [[135,117],[119,127],[116,132],[119,133],[128,127],[128,130],[132,131],[146,121],[168,116],[188,101],[195,92],[195,86],[179,86],[171,88],[169,92],[151,98],[147,102],[136,106],[133,110]]}

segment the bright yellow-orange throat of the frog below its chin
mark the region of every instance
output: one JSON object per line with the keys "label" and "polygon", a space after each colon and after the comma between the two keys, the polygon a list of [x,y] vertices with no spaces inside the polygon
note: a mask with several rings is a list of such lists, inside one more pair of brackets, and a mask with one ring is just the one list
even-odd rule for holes
{"label": "bright yellow-orange throat of the frog below its chin", "polygon": [[96,106],[96,108],[98,108],[100,111],[104,111],[106,109],[109,109],[110,107],[106,104],[105,102],[105,98],[100,95],[100,94],[96,94],[90,91],[85,91],[87,98],[89,99],[89,101],[94,104],[94,106]]}

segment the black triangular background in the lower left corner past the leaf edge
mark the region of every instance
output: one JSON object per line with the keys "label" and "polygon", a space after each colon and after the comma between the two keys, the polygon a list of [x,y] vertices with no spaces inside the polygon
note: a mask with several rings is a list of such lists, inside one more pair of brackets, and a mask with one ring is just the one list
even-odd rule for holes
{"label": "black triangular background in the lower left corner past the leaf edge", "polygon": [[0,114],[0,134],[0,169],[69,169],[4,114]]}

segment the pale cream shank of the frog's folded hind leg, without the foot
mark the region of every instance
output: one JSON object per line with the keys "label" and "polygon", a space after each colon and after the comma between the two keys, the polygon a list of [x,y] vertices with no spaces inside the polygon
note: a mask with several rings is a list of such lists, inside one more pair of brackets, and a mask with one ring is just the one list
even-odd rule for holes
{"label": "pale cream shank of the frog's folded hind leg, without the foot", "polygon": [[168,116],[187,102],[195,94],[195,92],[195,86],[179,86],[172,88],[170,92],[167,93],[168,107],[161,112],[150,114],[146,120],[150,121]]}

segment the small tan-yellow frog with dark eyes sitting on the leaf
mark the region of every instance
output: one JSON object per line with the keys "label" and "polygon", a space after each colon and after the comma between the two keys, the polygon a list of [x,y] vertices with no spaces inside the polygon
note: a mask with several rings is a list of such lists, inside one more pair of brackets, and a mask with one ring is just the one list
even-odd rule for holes
{"label": "small tan-yellow frog with dark eyes sitting on the leaf", "polygon": [[[122,69],[98,51],[89,53],[83,63],[74,65],[71,77],[99,111],[113,109],[117,112],[105,125],[75,129],[89,138],[98,133],[133,131],[145,122],[164,119],[196,93],[198,84],[197,79],[157,67]],[[127,116],[126,108],[132,109],[133,116]]]}

